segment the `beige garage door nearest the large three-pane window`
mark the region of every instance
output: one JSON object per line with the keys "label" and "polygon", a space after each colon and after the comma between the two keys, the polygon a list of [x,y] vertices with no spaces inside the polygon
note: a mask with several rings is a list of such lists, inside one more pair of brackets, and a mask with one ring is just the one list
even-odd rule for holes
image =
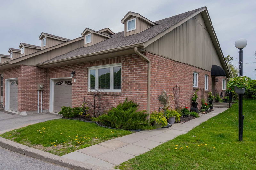
{"label": "beige garage door nearest the large three-pane window", "polygon": [[72,79],[54,81],[53,111],[58,113],[63,106],[72,107]]}

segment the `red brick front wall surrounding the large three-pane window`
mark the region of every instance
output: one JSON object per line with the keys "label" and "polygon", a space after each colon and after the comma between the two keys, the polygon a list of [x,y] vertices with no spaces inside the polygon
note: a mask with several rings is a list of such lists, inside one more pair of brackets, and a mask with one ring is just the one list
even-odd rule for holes
{"label": "red brick front wall surrounding the large three-pane window", "polygon": [[[87,67],[113,63],[122,63],[122,91],[121,93],[104,93],[102,101],[106,109],[117,106],[127,97],[140,104],[140,110],[147,109],[147,62],[137,55],[127,55],[111,59],[73,64],[68,66],[49,68],[49,78],[70,77],[75,71],[76,82],[72,84],[72,106],[79,107],[83,98],[92,99],[87,92]],[[111,95],[109,95],[111,94]]]}

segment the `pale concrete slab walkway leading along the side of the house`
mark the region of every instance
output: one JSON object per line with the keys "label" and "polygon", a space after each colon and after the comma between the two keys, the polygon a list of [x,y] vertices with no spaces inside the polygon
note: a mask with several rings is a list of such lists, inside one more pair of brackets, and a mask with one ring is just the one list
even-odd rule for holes
{"label": "pale concrete slab walkway leading along the side of the house", "polygon": [[174,139],[178,135],[187,133],[202,122],[227,110],[227,108],[214,109],[208,114],[200,114],[200,117],[183,124],[175,123],[170,128],[136,132],[79,149],[62,157],[103,167],[115,167],[136,155]]}

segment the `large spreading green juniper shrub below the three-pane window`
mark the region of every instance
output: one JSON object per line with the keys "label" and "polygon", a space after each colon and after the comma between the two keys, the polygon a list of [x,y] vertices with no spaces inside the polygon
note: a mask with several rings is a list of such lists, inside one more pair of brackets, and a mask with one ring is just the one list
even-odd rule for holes
{"label": "large spreading green juniper shrub below the three-pane window", "polygon": [[139,105],[132,100],[125,99],[124,103],[120,103],[117,107],[113,107],[107,114],[92,118],[93,121],[103,123],[105,126],[116,129],[148,129],[146,111],[137,111]]}

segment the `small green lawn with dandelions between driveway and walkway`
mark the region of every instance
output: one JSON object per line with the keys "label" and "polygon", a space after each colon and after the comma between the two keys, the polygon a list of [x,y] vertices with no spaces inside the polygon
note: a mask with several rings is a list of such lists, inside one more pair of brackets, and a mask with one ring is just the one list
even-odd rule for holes
{"label": "small green lawn with dandelions between driveway and walkway", "polygon": [[61,156],[131,133],[103,128],[94,123],[57,119],[12,130],[1,137]]}

